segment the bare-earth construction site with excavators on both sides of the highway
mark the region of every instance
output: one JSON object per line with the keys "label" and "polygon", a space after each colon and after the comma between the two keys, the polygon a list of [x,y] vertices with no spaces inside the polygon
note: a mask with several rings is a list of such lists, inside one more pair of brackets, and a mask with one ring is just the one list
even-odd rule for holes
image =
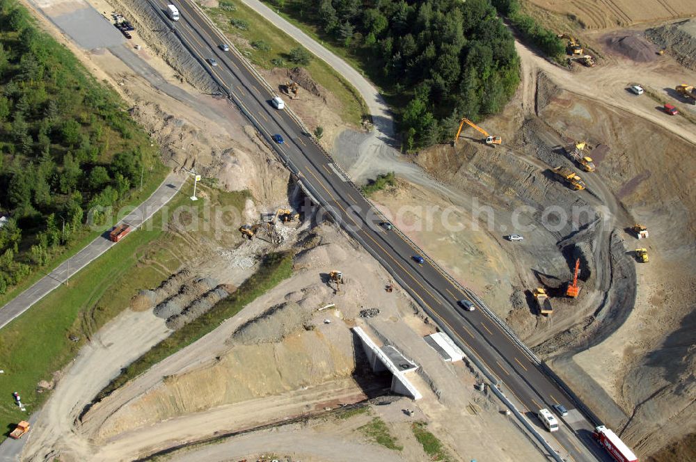
{"label": "bare-earth construction site with excavators on both sides of the highway", "polygon": [[[450,143],[420,152],[401,154],[343,122],[335,95],[302,68],[260,73],[310,130],[324,127],[319,142],[354,182],[395,173],[395,186],[370,196],[386,224],[480,296],[641,461],[690,460],[696,21],[683,18],[696,6],[527,3],[551,24],[570,14],[581,22],[557,30],[569,63],[516,42],[522,83],[503,113],[480,123],[458,116]],[[239,219],[201,231],[191,217],[171,218],[166,237],[139,256],[147,283],[56,372],[31,430],[21,422],[22,461],[548,460],[470,358],[432,340],[440,329],[409,293],[308,206],[242,113],[210,95],[202,67],[171,51],[146,1],[28,4],[132,106],[164,163],[213,179],[200,197]],[[81,8],[131,35],[147,72],[118,47],[85,51],[52,22]],[[292,255],[290,277],[100,395],[276,252]],[[375,355],[402,371],[375,367]]]}

